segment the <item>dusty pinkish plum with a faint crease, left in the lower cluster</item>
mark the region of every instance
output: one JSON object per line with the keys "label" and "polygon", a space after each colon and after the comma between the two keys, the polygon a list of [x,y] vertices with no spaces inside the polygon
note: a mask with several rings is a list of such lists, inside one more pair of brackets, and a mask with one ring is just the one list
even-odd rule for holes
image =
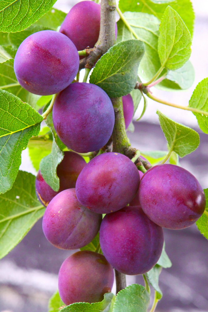
{"label": "dusty pinkish plum with a faint crease, left in the lower cluster", "polygon": [[60,249],[78,249],[97,235],[102,215],[82,206],[69,188],[57,194],[43,216],[43,232],[52,245]]}

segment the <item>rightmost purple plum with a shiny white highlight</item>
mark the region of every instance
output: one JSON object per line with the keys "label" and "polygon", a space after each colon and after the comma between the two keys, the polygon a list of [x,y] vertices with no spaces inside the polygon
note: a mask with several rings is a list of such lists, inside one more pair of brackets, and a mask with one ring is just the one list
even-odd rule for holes
{"label": "rightmost purple plum with a shiny white highlight", "polygon": [[150,168],[139,185],[139,202],[146,215],[168,229],[191,226],[205,210],[206,198],[197,179],[172,164]]}

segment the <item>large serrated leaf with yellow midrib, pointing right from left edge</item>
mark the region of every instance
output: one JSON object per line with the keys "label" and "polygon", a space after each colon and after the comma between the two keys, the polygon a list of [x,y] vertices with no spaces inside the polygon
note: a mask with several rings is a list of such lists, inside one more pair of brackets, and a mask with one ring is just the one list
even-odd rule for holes
{"label": "large serrated leaf with yellow midrib, pointing right from left edge", "polygon": [[0,97],[0,193],[5,193],[16,179],[22,150],[39,133],[43,118],[7,91],[0,89]]}

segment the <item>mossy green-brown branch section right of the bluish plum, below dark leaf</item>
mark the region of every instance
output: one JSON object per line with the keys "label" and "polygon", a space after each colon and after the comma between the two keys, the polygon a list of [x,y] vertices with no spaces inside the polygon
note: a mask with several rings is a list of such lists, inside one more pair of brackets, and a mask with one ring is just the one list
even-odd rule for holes
{"label": "mossy green-brown branch section right of the bluish plum, below dark leaf", "polygon": [[128,148],[131,144],[126,135],[125,121],[123,117],[123,104],[122,97],[111,98],[114,113],[115,113],[115,124],[113,129],[113,152],[124,153],[124,149]]}

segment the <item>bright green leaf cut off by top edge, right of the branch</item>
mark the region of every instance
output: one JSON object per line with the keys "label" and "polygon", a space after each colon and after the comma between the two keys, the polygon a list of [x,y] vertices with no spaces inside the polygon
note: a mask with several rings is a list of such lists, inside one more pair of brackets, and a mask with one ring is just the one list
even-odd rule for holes
{"label": "bright green leaf cut off by top edge, right of the branch", "polygon": [[159,20],[161,20],[163,13],[165,12],[167,6],[170,5],[178,14],[181,16],[182,20],[186,24],[191,36],[193,36],[194,30],[194,10],[192,7],[191,0],[161,0],[161,1],[150,1],[150,0],[120,0],[119,8],[122,12],[144,12],[148,14],[153,14]]}

